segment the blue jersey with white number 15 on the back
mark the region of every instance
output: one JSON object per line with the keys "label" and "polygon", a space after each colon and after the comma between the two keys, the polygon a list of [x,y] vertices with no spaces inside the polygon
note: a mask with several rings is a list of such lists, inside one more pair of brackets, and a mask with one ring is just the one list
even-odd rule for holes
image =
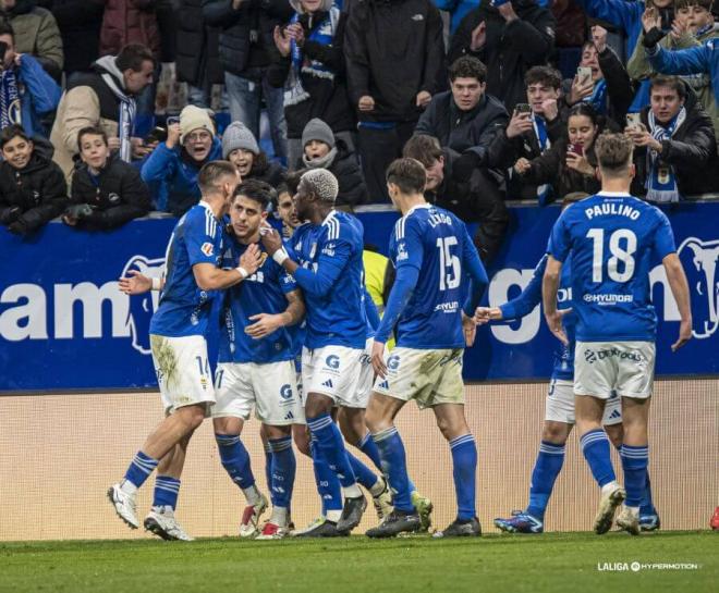
{"label": "blue jersey with white number 15 on the back", "polygon": [[462,270],[475,247],[466,226],[451,212],[416,206],[390,238],[390,260],[399,271],[419,271],[414,292],[397,324],[397,345],[406,348],[463,348]]}

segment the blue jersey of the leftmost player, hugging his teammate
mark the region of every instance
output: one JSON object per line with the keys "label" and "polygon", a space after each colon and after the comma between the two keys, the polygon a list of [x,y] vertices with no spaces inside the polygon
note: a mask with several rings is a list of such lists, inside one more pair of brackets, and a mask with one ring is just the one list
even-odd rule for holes
{"label": "blue jersey of the leftmost player, hugging his teammate", "polygon": [[169,337],[206,335],[217,291],[203,291],[195,282],[196,263],[218,265],[223,231],[209,205],[200,201],[178,222],[164,256],[164,286],[150,321],[150,333]]}

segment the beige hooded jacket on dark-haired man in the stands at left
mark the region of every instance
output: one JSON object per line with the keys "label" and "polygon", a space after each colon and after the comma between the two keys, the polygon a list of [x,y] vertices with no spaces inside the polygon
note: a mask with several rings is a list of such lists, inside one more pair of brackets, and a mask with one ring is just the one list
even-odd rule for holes
{"label": "beige hooded jacket on dark-haired man in the stands at left", "polygon": [[70,81],[62,95],[50,141],[54,146],[53,160],[70,181],[77,158],[77,133],[95,125],[105,129],[109,138],[118,135],[120,99],[102,79],[110,74],[118,88],[124,90],[124,77],[114,63],[114,55],[105,55],[93,64],[93,72]]}

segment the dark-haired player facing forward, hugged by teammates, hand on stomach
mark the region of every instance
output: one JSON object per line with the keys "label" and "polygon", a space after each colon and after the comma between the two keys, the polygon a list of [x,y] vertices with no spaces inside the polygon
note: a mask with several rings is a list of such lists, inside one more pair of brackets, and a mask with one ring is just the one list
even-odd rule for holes
{"label": "dark-haired player facing forward, hugged by teammates, hand on stomach", "polygon": [[[258,181],[237,186],[230,207],[223,264],[231,265],[258,244],[270,193],[271,187]],[[261,247],[260,250],[259,268],[224,295],[212,419],[222,466],[247,498],[241,536],[257,535],[257,522],[267,501],[255,485],[249,455],[240,434],[253,408],[263,423],[272,454],[272,515],[257,539],[271,540],[289,533],[296,468],[291,433],[294,423],[304,421],[295,381],[295,333],[291,326],[303,319],[305,308],[294,279]]]}

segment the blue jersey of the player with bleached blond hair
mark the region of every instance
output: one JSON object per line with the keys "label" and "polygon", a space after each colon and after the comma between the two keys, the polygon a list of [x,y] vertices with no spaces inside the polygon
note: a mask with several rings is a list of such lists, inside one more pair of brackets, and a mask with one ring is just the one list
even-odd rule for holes
{"label": "blue jersey of the player with bleached blond hair", "polygon": [[290,239],[301,265],[294,277],[305,297],[308,348],[365,347],[363,235],[355,217],[332,210],[321,224],[297,227]]}

